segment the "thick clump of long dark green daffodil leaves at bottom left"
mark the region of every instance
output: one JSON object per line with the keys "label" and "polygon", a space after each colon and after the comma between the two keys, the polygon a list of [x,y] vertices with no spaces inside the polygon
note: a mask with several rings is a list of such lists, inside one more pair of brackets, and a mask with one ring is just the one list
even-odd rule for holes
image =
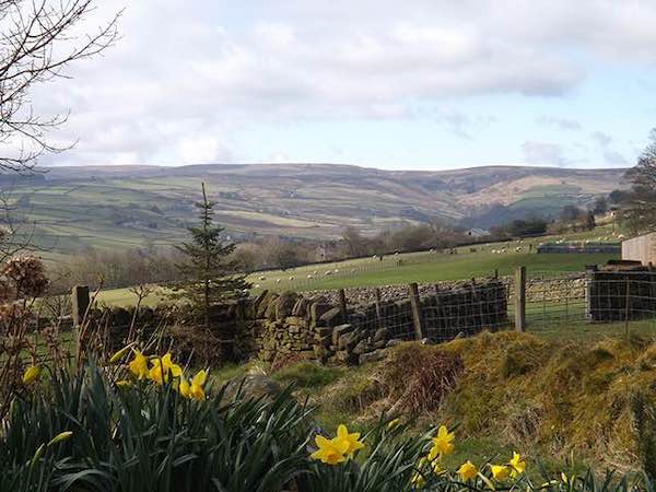
{"label": "thick clump of long dark green daffodil leaves at bottom left", "polygon": [[[154,385],[117,390],[95,366],[50,388],[16,400],[0,427],[2,492],[273,492],[307,468],[309,409],[289,391],[197,402]],[[73,435],[38,456],[62,431]]]}

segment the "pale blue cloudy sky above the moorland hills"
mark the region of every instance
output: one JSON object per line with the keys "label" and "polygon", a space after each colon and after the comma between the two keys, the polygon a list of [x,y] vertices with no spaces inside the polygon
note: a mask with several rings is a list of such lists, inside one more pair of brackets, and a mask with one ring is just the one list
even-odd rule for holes
{"label": "pale blue cloudy sky above the moorland hills", "polygon": [[656,126],[656,1],[104,0],[120,39],[37,87],[42,165],[624,167]]}

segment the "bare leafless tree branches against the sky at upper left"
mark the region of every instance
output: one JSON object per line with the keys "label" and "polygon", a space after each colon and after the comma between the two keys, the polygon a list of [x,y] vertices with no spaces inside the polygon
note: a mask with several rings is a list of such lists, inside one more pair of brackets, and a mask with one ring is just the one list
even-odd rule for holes
{"label": "bare leafless tree branches against the sky at upper left", "polygon": [[31,91],[68,78],[73,62],[101,54],[117,39],[120,12],[92,34],[79,35],[97,0],[0,0],[0,172],[30,173],[44,153],[65,148],[46,134],[68,115],[38,115]]}

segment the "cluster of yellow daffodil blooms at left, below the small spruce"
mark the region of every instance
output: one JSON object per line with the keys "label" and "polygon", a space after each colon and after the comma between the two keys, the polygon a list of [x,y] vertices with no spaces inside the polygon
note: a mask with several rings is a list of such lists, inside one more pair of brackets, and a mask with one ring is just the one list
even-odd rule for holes
{"label": "cluster of yellow daffodil blooms at left, below the small spruce", "polygon": [[[110,364],[118,363],[128,352],[132,352],[132,360],[127,367],[132,376],[138,380],[151,380],[152,383],[163,386],[171,384],[171,387],[178,391],[183,397],[202,401],[206,398],[203,386],[207,379],[207,372],[199,371],[189,379],[185,376],[183,368],[173,362],[173,356],[169,352],[161,358],[144,355],[140,350],[131,345],[125,347],[116,352],[110,359]],[[116,383],[118,387],[128,387],[130,380],[121,379]]]}

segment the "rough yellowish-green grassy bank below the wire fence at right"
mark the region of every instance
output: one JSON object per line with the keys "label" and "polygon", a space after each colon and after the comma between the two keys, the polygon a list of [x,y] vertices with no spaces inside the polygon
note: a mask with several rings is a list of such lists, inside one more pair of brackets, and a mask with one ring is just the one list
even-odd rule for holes
{"label": "rough yellowish-green grassy bank below the wire fence at right", "polygon": [[[235,375],[233,367],[232,376]],[[597,466],[633,468],[647,458],[656,401],[656,343],[608,338],[558,342],[483,333],[442,345],[407,343],[358,368],[302,363],[272,375],[319,406],[326,429],[367,429],[380,412],[445,422],[462,440],[458,461],[511,448],[559,462],[571,454]],[[651,440],[651,441],[649,441]]]}

